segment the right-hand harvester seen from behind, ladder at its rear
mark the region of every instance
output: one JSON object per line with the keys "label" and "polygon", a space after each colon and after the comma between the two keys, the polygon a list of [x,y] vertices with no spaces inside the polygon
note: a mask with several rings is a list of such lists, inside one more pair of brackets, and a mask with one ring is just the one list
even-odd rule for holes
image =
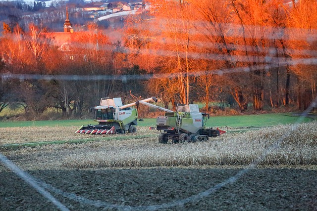
{"label": "right-hand harvester seen from behind, ladder at its rear", "polygon": [[165,111],[164,116],[157,118],[157,129],[163,131],[159,135],[160,143],[167,143],[169,139],[177,142],[196,142],[207,141],[208,137],[219,136],[225,133],[225,130],[219,128],[206,128],[209,114],[200,113],[196,104],[178,104],[176,111],[165,109],[147,102],[141,104]]}

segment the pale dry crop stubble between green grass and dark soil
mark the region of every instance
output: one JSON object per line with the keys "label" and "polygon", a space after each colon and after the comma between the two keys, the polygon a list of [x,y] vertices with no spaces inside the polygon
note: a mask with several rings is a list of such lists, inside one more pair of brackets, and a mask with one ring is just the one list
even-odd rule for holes
{"label": "pale dry crop stubble between green grass and dark soil", "polygon": [[[74,127],[34,127],[27,131],[25,127],[1,128],[1,144],[93,140],[80,144],[25,147],[18,152],[23,154],[53,150],[58,152],[58,163],[61,166],[74,169],[245,166],[263,155],[259,165],[317,165],[317,122],[303,123],[296,129],[293,127],[280,125],[243,133],[229,131],[206,142],[184,144],[159,144],[159,132],[147,127],[138,127],[137,134],[110,136],[74,134]],[[148,137],[140,138],[140,134]],[[128,139],[116,139],[125,136]],[[103,140],[105,138],[108,139]]]}

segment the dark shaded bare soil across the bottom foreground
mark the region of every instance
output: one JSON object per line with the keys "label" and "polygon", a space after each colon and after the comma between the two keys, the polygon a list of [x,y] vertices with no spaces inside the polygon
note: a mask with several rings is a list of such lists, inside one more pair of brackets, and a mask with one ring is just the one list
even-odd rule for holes
{"label": "dark shaded bare soil across the bottom foreground", "polygon": [[[52,185],[47,190],[69,210],[86,211],[117,210],[106,205],[131,206],[133,210],[138,206],[169,204],[204,192],[239,170],[206,167],[33,170],[28,173]],[[182,207],[159,210],[313,211],[317,208],[316,175],[317,170],[309,169],[251,169],[235,183],[204,198],[192,200]],[[1,165],[0,187],[2,211],[57,210],[51,202]],[[54,188],[61,190],[64,196],[53,192]],[[65,197],[70,193],[83,198],[79,200],[74,195],[73,199]]]}

